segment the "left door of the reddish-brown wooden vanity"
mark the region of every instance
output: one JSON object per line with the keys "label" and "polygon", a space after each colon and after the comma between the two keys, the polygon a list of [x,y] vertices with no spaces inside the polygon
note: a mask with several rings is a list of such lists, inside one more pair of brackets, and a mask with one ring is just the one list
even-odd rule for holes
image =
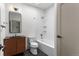
{"label": "left door of the reddish-brown wooden vanity", "polygon": [[5,56],[11,56],[16,54],[16,40],[11,39],[5,39],[4,40],[4,55]]}

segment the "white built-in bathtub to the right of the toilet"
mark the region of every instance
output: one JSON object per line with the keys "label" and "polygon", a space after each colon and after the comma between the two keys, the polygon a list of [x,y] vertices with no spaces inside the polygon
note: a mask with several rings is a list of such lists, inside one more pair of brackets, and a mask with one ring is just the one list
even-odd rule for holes
{"label": "white built-in bathtub to the right of the toilet", "polygon": [[53,42],[45,41],[45,39],[37,40],[39,49],[48,56],[56,56],[56,49],[53,46]]}

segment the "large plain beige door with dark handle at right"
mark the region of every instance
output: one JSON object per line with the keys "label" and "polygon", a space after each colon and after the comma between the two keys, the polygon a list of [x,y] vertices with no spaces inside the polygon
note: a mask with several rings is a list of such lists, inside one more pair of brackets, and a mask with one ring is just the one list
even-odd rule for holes
{"label": "large plain beige door with dark handle at right", "polygon": [[61,5],[61,55],[79,56],[79,4]]}

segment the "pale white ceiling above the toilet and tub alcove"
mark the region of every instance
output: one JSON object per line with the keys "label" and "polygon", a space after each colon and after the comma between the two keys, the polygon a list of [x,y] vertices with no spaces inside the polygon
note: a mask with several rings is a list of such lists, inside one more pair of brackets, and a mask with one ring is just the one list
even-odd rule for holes
{"label": "pale white ceiling above the toilet and tub alcove", "polygon": [[37,8],[45,10],[53,6],[54,3],[27,3],[27,5],[31,5],[33,7],[37,7]]}

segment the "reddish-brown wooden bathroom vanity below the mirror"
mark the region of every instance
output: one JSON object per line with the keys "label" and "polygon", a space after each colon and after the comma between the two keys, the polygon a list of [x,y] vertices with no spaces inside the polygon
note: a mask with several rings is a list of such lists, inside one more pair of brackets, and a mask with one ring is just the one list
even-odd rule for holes
{"label": "reddish-brown wooden bathroom vanity below the mirror", "polygon": [[4,39],[4,56],[13,56],[25,52],[25,37],[15,36]]}

